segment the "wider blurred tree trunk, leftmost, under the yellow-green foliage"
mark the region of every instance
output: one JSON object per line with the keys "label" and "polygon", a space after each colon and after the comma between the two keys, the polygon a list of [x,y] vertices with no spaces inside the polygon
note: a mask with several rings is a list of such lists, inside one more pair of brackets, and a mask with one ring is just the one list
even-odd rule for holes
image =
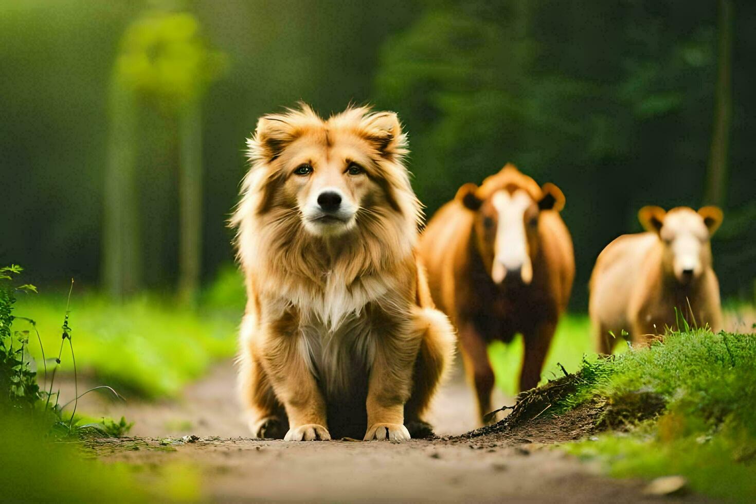
{"label": "wider blurred tree trunk, leftmost, under the yellow-green foliage", "polygon": [[135,292],[142,280],[136,187],[137,121],[135,94],[114,78],[110,89],[102,274],[107,292],[116,299]]}

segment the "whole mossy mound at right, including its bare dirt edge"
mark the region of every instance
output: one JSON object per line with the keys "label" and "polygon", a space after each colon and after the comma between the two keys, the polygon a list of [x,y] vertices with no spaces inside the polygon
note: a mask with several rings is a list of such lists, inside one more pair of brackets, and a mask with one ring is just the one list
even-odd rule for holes
{"label": "whole mossy mound at right, including its bare dirt edge", "polygon": [[682,475],[694,491],[752,502],[756,335],[671,332],[649,348],[584,359],[578,373],[519,394],[507,419],[469,435],[549,429],[553,441],[583,434],[564,449],[611,475]]}

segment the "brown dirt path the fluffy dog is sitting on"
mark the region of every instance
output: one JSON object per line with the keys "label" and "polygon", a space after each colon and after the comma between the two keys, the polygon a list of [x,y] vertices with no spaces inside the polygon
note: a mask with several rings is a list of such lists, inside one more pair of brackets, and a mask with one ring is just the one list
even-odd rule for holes
{"label": "brown dirt path the fluffy dog is sitting on", "polygon": [[[80,384],[81,386],[81,384]],[[70,386],[62,395],[72,394]],[[93,394],[90,394],[92,396]],[[494,404],[511,404],[497,397]],[[166,467],[191,465],[203,499],[310,502],[645,502],[643,481],[612,480],[597,468],[553,450],[554,441],[584,434],[569,426],[532,424],[507,435],[457,437],[476,427],[469,388],[457,374],[443,388],[432,415],[440,438],[293,443],[248,438],[234,400],[234,370],[223,363],[191,385],[181,400],[111,403],[79,401],[92,415],[135,422],[133,437],[105,440],[98,456],[129,462],[145,484]],[[184,441],[181,441],[181,437]],[[170,469],[169,469],[170,470]],[[698,496],[666,497],[702,502]]]}

